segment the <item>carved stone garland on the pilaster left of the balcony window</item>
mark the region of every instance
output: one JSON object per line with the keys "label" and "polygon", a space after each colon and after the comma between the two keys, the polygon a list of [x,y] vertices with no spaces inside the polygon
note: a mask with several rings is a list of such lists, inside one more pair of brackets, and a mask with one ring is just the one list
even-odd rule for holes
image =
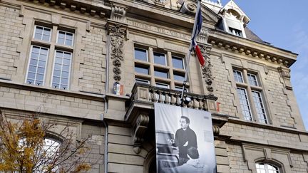
{"label": "carved stone garland on the pilaster left of the balcony window", "polygon": [[120,81],[121,70],[120,66],[123,58],[123,44],[126,36],[126,28],[120,23],[111,24],[108,26],[108,31],[111,41],[111,59],[113,60],[113,79],[116,82]]}

